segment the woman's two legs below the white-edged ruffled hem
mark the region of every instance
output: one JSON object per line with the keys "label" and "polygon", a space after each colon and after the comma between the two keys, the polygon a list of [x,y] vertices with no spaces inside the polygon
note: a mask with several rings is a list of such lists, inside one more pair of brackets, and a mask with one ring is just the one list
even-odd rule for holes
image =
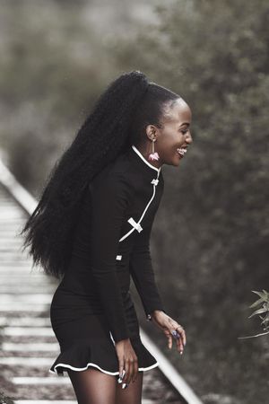
{"label": "woman's two legs below the white-edged ruffled hem", "polygon": [[117,382],[118,375],[103,373],[96,368],[76,372],[67,370],[78,404],[141,404],[143,372],[126,389]]}

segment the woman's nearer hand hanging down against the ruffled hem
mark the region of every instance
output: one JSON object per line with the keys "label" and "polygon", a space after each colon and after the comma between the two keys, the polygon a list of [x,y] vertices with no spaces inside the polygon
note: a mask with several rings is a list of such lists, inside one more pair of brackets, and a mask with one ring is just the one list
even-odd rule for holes
{"label": "woman's nearer hand hanging down against the ruffled hem", "polygon": [[[115,343],[119,364],[119,376],[124,374],[122,382],[134,382],[138,373],[138,361],[129,338],[121,339]],[[125,372],[124,372],[125,371]]]}

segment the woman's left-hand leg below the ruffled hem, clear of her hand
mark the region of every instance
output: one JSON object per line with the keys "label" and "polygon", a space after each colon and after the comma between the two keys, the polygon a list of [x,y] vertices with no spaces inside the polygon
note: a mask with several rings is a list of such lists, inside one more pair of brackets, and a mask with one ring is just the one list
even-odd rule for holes
{"label": "woman's left-hand leg below the ruffled hem, clear of her hand", "polygon": [[92,367],[82,372],[68,369],[67,373],[78,404],[115,404],[117,378],[114,375]]}

